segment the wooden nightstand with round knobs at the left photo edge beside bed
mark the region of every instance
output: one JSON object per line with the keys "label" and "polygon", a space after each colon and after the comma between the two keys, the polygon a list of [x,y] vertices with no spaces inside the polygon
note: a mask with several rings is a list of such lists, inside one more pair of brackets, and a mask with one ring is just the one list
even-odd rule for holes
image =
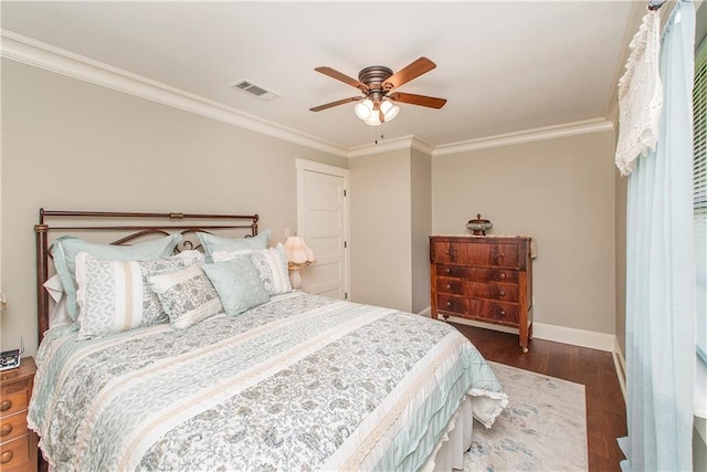
{"label": "wooden nightstand with round knobs at the left photo edge beside bed", "polygon": [[0,371],[0,470],[36,471],[36,434],[27,426],[27,410],[36,365],[24,357],[20,367]]}

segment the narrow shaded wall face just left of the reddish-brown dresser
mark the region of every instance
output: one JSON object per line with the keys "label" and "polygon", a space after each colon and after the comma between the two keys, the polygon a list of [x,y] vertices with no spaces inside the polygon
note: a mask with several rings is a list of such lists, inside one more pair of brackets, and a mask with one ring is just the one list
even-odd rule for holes
{"label": "narrow shaded wall face just left of the reddish-brown dresser", "polygon": [[432,159],[418,150],[410,151],[412,231],[412,305],[413,313],[430,306],[430,234],[432,234]]}

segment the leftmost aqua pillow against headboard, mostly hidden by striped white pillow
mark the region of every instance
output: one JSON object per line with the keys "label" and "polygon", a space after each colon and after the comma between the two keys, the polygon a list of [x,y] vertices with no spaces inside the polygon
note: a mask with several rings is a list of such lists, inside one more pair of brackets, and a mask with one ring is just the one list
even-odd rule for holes
{"label": "leftmost aqua pillow against headboard, mostly hidden by striped white pillow", "polygon": [[75,259],[80,252],[87,252],[96,259],[113,261],[144,261],[147,259],[167,258],[175,253],[175,248],[182,240],[181,234],[172,234],[154,241],[146,241],[133,245],[94,244],[78,238],[61,237],[52,244],[56,274],[62,281],[66,293],[66,308],[73,321],[78,317],[76,303],[76,265]]}

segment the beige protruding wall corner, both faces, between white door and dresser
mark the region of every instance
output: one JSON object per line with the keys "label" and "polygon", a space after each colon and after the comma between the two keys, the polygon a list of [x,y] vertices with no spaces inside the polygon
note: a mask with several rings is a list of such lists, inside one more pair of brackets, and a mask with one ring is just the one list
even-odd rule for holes
{"label": "beige protruding wall corner, both faces, between white door and dresser", "polygon": [[431,157],[399,149],[350,159],[352,300],[430,306]]}

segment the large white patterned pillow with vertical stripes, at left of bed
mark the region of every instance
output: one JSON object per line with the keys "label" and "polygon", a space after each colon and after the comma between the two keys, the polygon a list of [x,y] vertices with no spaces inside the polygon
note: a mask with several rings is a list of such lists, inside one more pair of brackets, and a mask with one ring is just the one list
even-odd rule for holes
{"label": "large white patterned pillow with vertical stripes, at left of bed", "polygon": [[183,251],[171,258],[148,261],[107,261],[80,252],[75,261],[78,336],[85,339],[168,323],[147,279],[202,261],[199,251]]}

